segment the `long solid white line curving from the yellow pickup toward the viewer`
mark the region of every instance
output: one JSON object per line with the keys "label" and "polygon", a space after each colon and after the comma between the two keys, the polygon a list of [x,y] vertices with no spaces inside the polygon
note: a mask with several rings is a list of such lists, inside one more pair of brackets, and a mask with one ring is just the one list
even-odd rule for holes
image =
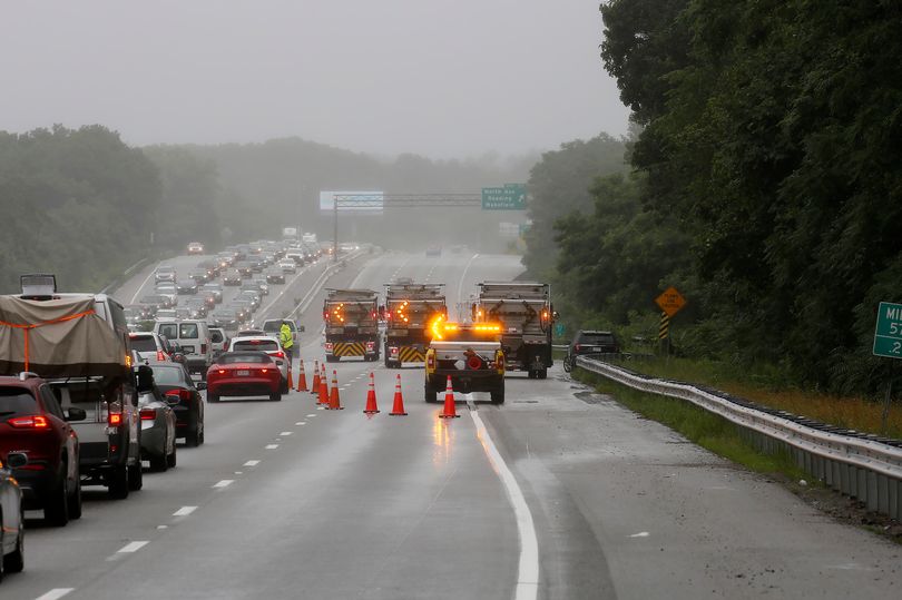
{"label": "long solid white line curving from the yellow pickup toward the viewer", "polygon": [[529,512],[529,505],[526,498],[523,498],[523,492],[517,484],[517,479],[508,469],[504,459],[501,458],[486,425],[482,423],[479,411],[470,411],[470,416],[473,417],[477,436],[482,442],[482,447],[486,449],[489,461],[494,464],[498,476],[501,478],[501,482],[508,491],[508,498],[513,505],[513,514],[517,519],[517,531],[520,534],[520,567],[517,574],[514,599],[536,600],[539,593],[539,541],[536,537],[536,525],[532,523],[532,513]]}

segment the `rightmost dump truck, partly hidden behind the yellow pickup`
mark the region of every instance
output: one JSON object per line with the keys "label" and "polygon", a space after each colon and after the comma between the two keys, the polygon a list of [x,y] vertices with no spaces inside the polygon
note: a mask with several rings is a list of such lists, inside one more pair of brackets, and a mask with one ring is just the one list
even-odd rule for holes
{"label": "rightmost dump truck, partly hidden behind the yellow pickup", "polygon": [[555,313],[551,286],[538,282],[483,282],[472,305],[473,322],[501,324],[501,347],[508,371],[530,378],[548,376]]}

